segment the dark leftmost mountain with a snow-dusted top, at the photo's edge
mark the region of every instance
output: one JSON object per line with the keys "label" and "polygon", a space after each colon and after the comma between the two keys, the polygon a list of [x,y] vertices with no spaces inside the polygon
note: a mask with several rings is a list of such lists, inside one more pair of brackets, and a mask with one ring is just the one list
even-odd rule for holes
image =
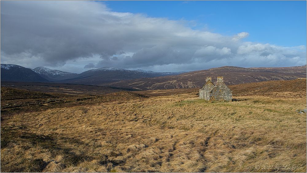
{"label": "dark leftmost mountain with a snow-dusted top, at the photo's edge", "polygon": [[1,64],[1,81],[47,82],[48,80],[31,69],[19,65]]}

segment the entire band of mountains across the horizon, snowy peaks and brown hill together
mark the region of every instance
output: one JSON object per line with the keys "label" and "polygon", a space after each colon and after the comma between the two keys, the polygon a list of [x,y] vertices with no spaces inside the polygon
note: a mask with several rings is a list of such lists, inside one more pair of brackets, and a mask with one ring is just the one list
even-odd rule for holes
{"label": "entire band of mountains across the horizon, snowy peaks and brown hill together", "polygon": [[292,80],[306,78],[306,65],[272,68],[224,66],[193,72],[174,73],[103,67],[77,74],[45,67],[30,69],[19,65],[1,64],[1,81],[57,82],[143,90],[200,87],[204,84],[206,77],[212,77],[212,81],[215,82],[217,76],[223,76],[227,85]]}

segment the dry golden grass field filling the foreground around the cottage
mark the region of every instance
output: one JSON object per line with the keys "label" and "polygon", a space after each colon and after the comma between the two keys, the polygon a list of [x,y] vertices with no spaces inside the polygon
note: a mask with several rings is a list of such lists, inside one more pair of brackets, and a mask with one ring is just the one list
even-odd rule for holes
{"label": "dry golden grass field filling the foreground around the cottage", "polygon": [[18,113],[1,172],[305,172],[306,98],[195,93]]}

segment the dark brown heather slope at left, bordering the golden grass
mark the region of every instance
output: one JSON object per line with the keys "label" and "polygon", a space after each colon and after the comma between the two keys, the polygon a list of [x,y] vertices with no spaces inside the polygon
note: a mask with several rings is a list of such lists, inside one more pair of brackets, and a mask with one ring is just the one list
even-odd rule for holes
{"label": "dark brown heather slope at left, bordering the golden grass", "polygon": [[104,95],[71,95],[53,92],[36,92],[25,89],[1,87],[1,120],[20,112],[38,112],[51,108],[146,98],[138,93],[120,91]]}

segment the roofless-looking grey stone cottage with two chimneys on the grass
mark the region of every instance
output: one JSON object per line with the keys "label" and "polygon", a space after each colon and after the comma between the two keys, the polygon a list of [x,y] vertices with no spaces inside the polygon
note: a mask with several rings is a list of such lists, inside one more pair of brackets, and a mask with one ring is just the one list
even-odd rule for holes
{"label": "roofless-looking grey stone cottage with two chimneys on the grass", "polygon": [[232,101],[232,91],[223,81],[223,77],[217,77],[217,84],[212,83],[212,78],[207,77],[205,85],[199,90],[199,98],[205,100]]}

